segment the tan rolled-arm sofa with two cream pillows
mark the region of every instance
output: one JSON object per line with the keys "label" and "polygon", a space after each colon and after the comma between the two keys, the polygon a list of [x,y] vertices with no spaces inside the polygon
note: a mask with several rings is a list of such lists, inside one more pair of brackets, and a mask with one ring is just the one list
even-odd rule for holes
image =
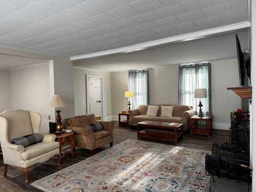
{"label": "tan rolled-arm sofa with two cream pillows", "polygon": [[[160,117],[161,105],[174,106],[172,117]],[[188,130],[190,127],[190,117],[195,114],[191,106],[187,105],[175,105],[175,104],[158,104],[158,114],[156,117],[146,116],[150,105],[139,105],[138,108],[129,110],[130,119],[129,125],[136,125],[138,122],[150,120],[150,121],[163,121],[163,122],[177,122],[183,123],[183,129]],[[151,105],[156,106],[156,105]]]}

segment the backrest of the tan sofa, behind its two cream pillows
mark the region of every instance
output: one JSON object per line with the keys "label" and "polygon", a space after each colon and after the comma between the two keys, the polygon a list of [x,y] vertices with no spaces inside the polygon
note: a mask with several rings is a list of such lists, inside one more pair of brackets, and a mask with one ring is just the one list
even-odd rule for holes
{"label": "backrest of the tan sofa, behind its two cream pillows", "polygon": [[[163,106],[174,106],[174,109],[173,109],[173,112],[172,112],[172,116],[174,116],[174,117],[181,117],[182,114],[185,111],[192,109],[190,106],[187,106],[187,105],[175,105],[175,104],[151,105],[151,106],[159,106],[158,114],[157,114],[158,117],[161,116],[161,105],[163,105]],[[146,115],[147,111],[148,111],[148,106],[150,106],[150,105],[139,105],[138,106],[139,114],[140,115]]]}

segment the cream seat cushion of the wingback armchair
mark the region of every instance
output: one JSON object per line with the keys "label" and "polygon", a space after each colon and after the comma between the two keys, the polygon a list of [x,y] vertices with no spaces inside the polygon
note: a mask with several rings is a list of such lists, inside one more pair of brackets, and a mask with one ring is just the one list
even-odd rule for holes
{"label": "cream seat cushion of the wingback armchair", "polygon": [[52,143],[36,143],[24,148],[24,152],[21,154],[22,160],[28,160],[38,155],[44,154],[48,151],[54,150],[60,146],[59,142]]}

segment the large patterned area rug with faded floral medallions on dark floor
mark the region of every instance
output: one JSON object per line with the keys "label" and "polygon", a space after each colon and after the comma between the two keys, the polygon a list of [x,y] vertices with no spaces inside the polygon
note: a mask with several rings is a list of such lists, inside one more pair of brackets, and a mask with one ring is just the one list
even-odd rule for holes
{"label": "large patterned area rug with faded floral medallions on dark floor", "polygon": [[126,140],[31,185],[45,192],[208,192],[205,153]]}

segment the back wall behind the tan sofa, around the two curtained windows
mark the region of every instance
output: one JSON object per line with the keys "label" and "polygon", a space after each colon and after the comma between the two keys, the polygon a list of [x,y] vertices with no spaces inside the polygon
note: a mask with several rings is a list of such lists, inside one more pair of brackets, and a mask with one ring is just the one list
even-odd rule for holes
{"label": "back wall behind the tan sofa, around the two curtained windows", "polygon": [[[227,129],[230,126],[230,112],[241,108],[241,99],[228,87],[239,86],[237,59],[212,61],[212,114],[214,128]],[[112,94],[116,90],[127,88],[121,76],[124,72],[112,73]],[[149,103],[164,104],[178,103],[178,66],[149,69]],[[120,80],[119,80],[120,79]],[[120,96],[120,98],[122,95]],[[113,116],[121,112],[125,100],[115,99],[112,102]]]}

